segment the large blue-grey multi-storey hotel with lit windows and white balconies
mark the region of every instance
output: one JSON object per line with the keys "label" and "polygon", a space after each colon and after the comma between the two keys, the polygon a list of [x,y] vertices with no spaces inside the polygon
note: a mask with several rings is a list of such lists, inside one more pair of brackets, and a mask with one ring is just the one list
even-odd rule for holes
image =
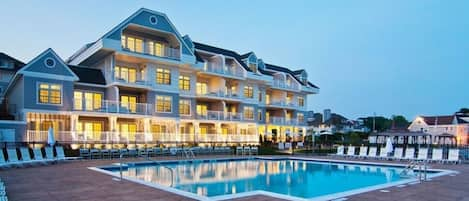
{"label": "large blue-grey multi-storey hotel with lit windows and white balconies", "polygon": [[194,42],[145,8],[66,60],[1,58],[4,141],[44,142],[50,129],[71,144],[298,140],[319,92],[305,70]]}

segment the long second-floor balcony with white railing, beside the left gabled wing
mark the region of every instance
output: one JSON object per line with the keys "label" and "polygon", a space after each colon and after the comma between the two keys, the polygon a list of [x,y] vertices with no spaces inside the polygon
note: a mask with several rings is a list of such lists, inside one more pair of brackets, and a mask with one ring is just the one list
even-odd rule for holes
{"label": "long second-floor balcony with white railing, beside the left gabled wing", "polygon": [[152,115],[152,104],[148,103],[123,103],[119,101],[103,100],[101,104],[87,104],[86,102],[75,103],[74,111],[83,112],[102,112],[102,113],[119,113],[119,114],[138,114]]}

